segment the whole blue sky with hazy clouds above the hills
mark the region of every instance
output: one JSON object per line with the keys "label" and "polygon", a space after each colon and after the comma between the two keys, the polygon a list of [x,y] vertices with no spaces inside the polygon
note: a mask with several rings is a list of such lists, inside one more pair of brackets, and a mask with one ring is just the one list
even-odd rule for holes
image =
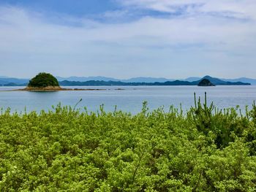
{"label": "whole blue sky with hazy clouds above the hills", "polygon": [[256,78],[255,0],[0,0],[0,76]]}

